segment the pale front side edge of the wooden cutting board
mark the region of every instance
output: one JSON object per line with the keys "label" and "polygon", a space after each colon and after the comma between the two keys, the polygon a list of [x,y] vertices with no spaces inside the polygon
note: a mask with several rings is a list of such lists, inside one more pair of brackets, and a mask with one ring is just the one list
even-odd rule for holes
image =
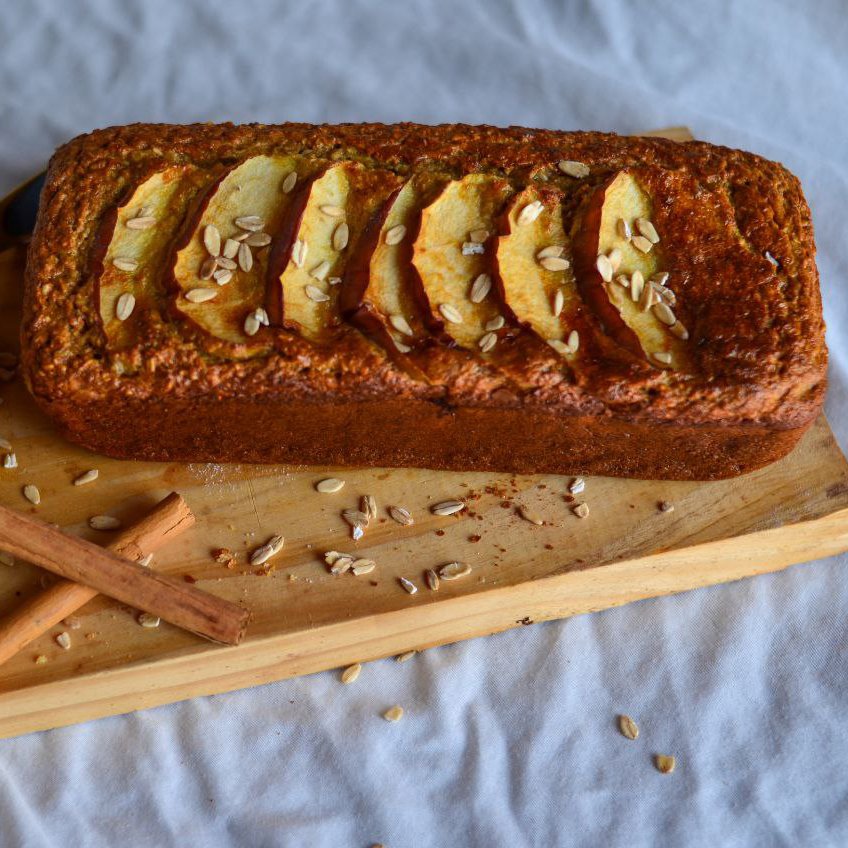
{"label": "pale front side edge of the wooden cutting board", "polygon": [[[811,544],[811,540],[815,540]],[[0,738],[486,636],[848,550],[848,509],[438,603],[45,683],[0,697]],[[638,588],[633,589],[631,587]]]}

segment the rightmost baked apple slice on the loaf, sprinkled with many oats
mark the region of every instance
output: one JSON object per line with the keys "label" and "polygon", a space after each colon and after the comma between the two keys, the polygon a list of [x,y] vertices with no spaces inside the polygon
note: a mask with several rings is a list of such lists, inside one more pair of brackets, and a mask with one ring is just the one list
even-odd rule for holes
{"label": "rightmost baked apple slice on the loaf, sprinkled with many oats", "polygon": [[574,234],[578,285],[606,331],[657,368],[688,367],[688,332],[674,314],[651,197],[627,170],[588,201]]}

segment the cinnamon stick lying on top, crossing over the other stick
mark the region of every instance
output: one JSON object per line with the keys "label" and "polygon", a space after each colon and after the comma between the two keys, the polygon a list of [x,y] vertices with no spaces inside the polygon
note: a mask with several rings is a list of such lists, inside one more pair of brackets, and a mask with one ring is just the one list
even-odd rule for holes
{"label": "cinnamon stick lying on top, crossing over the other stick", "polygon": [[0,548],[214,642],[237,645],[244,636],[249,613],[237,604],[7,507],[0,507]]}

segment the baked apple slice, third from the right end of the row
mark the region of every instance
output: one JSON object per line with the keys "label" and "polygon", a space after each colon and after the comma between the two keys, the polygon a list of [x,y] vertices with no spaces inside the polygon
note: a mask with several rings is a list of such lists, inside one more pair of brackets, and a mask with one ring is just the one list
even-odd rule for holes
{"label": "baked apple slice, third from the right end of the row", "polygon": [[502,317],[492,281],[492,234],[512,191],[506,180],[484,174],[452,180],[422,212],[413,244],[431,330],[477,353],[491,349],[484,337]]}

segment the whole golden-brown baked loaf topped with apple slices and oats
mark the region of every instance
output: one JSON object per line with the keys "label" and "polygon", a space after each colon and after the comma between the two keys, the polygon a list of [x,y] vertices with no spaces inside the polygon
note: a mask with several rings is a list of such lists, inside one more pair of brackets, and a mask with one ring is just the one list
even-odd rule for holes
{"label": "whole golden-brown baked loaf topped with apple slices and oats", "polygon": [[520,127],[133,125],[53,157],[23,367],[116,457],[729,477],[824,391],[781,165]]}

